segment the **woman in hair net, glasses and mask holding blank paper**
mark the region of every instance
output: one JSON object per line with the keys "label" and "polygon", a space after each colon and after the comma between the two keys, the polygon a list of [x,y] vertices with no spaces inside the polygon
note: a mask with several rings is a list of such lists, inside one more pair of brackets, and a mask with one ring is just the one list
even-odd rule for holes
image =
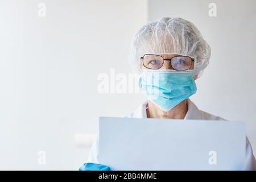
{"label": "woman in hair net, glasses and mask holding blank paper", "polygon": [[[148,101],[127,117],[225,120],[199,110],[189,100],[209,59],[210,47],[191,22],[161,18],[145,24],[134,37],[130,61],[141,72],[139,86]],[[80,170],[110,170],[98,164],[97,154],[98,141]],[[245,170],[256,169],[248,140],[245,160]]]}

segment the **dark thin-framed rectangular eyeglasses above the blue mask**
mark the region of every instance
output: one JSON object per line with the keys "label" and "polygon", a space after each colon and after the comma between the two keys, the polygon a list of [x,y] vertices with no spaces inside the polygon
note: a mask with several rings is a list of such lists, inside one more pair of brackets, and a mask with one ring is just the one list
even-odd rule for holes
{"label": "dark thin-framed rectangular eyeglasses above the blue mask", "polygon": [[175,56],[172,59],[164,59],[159,55],[146,54],[141,57],[144,67],[148,69],[160,69],[163,67],[164,61],[170,61],[171,67],[176,71],[185,71],[191,68],[192,61],[195,59],[189,56]]}

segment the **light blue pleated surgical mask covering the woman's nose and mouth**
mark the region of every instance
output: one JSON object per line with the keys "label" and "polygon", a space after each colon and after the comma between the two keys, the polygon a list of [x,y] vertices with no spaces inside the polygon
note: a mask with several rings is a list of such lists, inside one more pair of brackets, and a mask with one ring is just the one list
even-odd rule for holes
{"label": "light blue pleated surgical mask covering the woman's nose and mouth", "polygon": [[164,111],[196,93],[193,71],[175,71],[172,69],[142,69],[139,87],[148,100]]}

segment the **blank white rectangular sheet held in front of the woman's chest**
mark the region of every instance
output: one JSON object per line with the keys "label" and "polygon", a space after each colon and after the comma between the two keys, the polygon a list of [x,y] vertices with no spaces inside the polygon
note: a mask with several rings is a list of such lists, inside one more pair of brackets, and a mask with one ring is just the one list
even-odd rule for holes
{"label": "blank white rectangular sheet held in front of the woman's chest", "polygon": [[98,162],[112,170],[241,170],[245,123],[100,118]]}

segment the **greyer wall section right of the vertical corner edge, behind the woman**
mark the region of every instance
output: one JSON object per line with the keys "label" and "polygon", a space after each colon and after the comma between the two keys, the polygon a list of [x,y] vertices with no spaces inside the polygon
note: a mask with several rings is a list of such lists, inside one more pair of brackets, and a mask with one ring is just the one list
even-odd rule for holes
{"label": "greyer wall section right of the vertical corner edge, behind the woman", "polygon": [[[208,15],[216,3],[217,17]],[[192,100],[201,110],[225,119],[246,121],[256,152],[256,1],[148,1],[149,19],[181,17],[196,24],[212,48],[210,64]]]}

